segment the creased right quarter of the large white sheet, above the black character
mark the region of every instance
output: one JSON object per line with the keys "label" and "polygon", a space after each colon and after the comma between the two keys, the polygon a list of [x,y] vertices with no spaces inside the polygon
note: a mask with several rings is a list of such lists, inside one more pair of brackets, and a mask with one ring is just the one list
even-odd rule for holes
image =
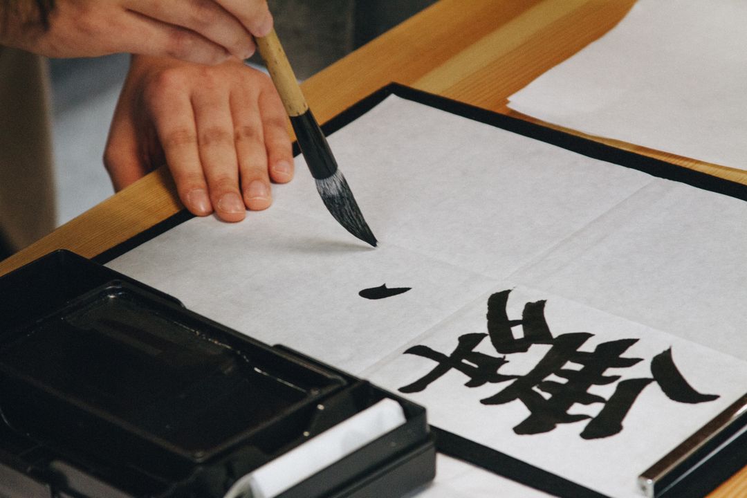
{"label": "creased right quarter of the large white sheet, above the black character", "polygon": [[744,360],[745,204],[655,182],[512,278]]}

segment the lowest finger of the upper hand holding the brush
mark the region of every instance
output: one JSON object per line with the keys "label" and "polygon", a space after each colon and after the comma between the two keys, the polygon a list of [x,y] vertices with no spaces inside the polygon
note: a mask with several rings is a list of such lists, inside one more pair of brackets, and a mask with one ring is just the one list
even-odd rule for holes
{"label": "lowest finger of the upper hand holding the brush", "polygon": [[120,29],[111,34],[110,43],[110,52],[173,57],[201,64],[217,64],[231,57],[223,46],[194,31],[134,11],[124,16]]}

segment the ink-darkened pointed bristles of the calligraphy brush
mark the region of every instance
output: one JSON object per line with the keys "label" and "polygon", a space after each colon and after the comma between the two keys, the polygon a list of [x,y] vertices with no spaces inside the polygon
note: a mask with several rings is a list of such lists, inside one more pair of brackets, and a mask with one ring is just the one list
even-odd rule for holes
{"label": "ink-darkened pointed bristles of the calligraphy brush", "polygon": [[376,237],[373,236],[371,228],[368,228],[368,223],[364,220],[358,203],[353,197],[353,192],[350,191],[340,170],[338,169],[328,178],[314,178],[314,180],[324,205],[335,220],[338,220],[347,231],[360,240],[376,247]]}

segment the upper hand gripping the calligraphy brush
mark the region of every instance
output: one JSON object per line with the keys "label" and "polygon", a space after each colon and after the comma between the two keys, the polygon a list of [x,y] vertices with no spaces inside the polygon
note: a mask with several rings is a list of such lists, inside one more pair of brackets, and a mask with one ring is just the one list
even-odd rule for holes
{"label": "upper hand gripping the calligraphy brush", "polygon": [[48,57],[128,52],[214,64],[249,57],[250,35],[273,25],[266,0],[55,0],[48,28],[36,0],[10,3],[0,2],[0,44]]}

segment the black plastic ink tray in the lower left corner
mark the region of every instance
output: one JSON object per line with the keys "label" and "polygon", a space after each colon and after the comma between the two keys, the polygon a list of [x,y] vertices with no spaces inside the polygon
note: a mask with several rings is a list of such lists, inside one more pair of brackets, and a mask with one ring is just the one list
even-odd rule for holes
{"label": "black plastic ink tray in the lower left corner", "polygon": [[71,252],[0,278],[0,296],[0,496],[222,498],[384,398],[403,426],[278,497],[397,497],[433,479],[421,406]]}

